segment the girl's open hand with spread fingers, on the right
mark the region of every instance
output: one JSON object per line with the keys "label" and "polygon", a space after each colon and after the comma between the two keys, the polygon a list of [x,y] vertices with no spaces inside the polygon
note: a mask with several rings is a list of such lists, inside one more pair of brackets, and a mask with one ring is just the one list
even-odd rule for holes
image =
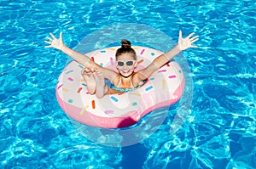
{"label": "girl's open hand with spread fingers, on the right", "polygon": [[192,37],[194,34],[195,32],[192,32],[189,34],[188,37],[183,38],[183,32],[179,31],[177,46],[180,51],[183,51],[187,48],[198,48],[197,46],[192,45],[193,42],[196,42],[199,40],[199,36]]}

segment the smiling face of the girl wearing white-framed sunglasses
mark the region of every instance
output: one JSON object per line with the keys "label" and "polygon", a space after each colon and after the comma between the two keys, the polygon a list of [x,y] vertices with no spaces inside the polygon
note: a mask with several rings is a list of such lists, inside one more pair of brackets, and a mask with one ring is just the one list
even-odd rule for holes
{"label": "smiling face of the girl wearing white-framed sunglasses", "polygon": [[116,68],[121,76],[131,76],[134,69],[137,67],[137,60],[131,54],[121,54],[116,60]]}

